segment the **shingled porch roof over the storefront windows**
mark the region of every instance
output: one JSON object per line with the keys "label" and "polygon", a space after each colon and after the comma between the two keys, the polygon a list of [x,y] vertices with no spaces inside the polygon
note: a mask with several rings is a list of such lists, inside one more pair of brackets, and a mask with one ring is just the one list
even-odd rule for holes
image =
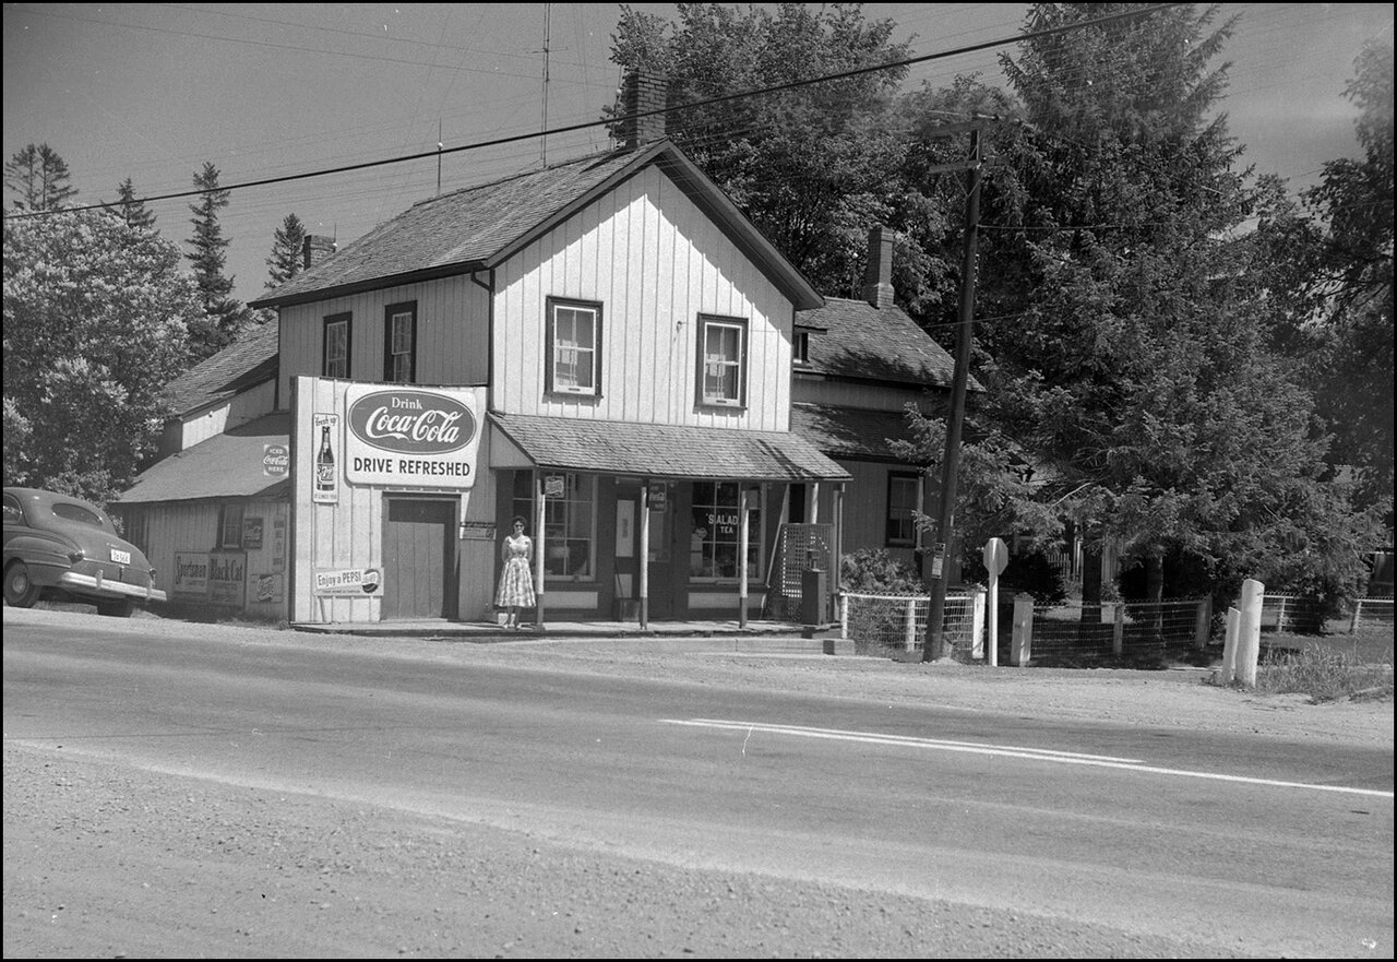
{"label": "shingled porch roof over the storefront windows", "polygon": [[[492,412],[532,467],[648,478],[847,481],[849,473],[784,431],[687,428]],[[492,461],[500,463],[492,456]]]}

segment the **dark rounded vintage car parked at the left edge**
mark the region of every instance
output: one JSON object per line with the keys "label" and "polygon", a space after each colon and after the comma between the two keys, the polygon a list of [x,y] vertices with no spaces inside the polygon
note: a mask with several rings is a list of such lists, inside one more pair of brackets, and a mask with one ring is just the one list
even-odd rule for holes
{"label": "dark rounded vintage car parked at the left edge", "polygon": [[145,555],[116,533],[106,513],[81,498],[36,488],[4,489],[4,601],[41,597],[95,604],[126,618],[165,601]]}

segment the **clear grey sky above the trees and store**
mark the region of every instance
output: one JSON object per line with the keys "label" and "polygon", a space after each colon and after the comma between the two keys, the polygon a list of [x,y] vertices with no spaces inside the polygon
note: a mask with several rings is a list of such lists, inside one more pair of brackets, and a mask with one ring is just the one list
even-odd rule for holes
{"label": "clear grey sky above the trees and store", "polygon": [[[630,4],[675,18],[675,6]],[[746,8],[747,4],[731,4]],[[870,3],[912,56],[1013,38],[1025,4]],[[1239,15],[1221,60],[1221,109],[1243,161],[1299,193],[1326,161],[1359,157],[1344,98],[1369,38],[1393,38],[1391,4],[1220,4]],[[513,143],[235,189],[219,217],[235,295],[265,292],[272,235],[286,214],[341,246],[414,203],[606,150],[599,119],[615,99],[609,59],[620,4],[4,4],[4,158],[49,144],[67,162],[74,203],[193,190],[205,162],[235,186],[286,175]],[[546,49],[546,56],[545,56]],[[919,64],[904,91],[979,73],[1004,85],[1006,45]],[[543,82],[545,63],[548,82]],[[545,98],[546,91],[546,98]],[[546,123],[545,123],[546,116]],[[439,180],[440,179],[440,180]],[[13,197],[4,193],[4,206]],[[161,234],[187,250],[193,197],[148,203]]]}

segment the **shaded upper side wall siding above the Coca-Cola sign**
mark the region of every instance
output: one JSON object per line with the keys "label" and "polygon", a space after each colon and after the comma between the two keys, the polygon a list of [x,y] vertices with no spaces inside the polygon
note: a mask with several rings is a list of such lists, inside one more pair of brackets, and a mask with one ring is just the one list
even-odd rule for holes
{"label": "shaded upper side wall siding above the Coca-Cola sign", "polygon": [[[481,277],[481,282],[486,282]],[[348,298],[281,309],[281,399],[289,405],[291,378],[319,378],[324,319],[348,312],[349,379],[383,380],[383,312],[390,303],[418,302],[416,383],[483,385],[489,376],[489,294],[471,277],[405,284]]]}

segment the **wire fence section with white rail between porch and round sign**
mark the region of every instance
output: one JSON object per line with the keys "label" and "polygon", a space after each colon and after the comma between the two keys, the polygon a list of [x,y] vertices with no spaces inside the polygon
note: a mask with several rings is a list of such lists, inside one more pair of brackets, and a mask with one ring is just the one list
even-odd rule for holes
{"label": "wire fence section with white rail between porch and round sign", "polygon": [[[932,600],[925,594],[840,593],[840,636],[856,654],[918,652],[925,647]],[[983,636],[985,594],[946,596],[942,635],[947,649],[970,652]]]}

